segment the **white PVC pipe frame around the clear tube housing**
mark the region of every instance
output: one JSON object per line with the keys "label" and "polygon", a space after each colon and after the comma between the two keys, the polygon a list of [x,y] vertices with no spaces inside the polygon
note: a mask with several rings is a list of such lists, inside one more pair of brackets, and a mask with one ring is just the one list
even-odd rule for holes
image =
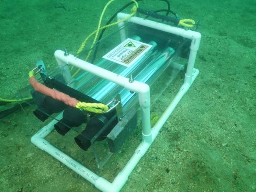
{"label": "white PVC pipe frame around the clear tube housing", "polygon": [[[128,14],[119,13],[118,20],[121,20],[127,17]],[[119,76],[116,73],[112,73],[108,70],[105,70],[101,67],[97,67],[96,65],[90,64],[86,61],[80,60],[79,58],[74,57],[73,55],[65,56],[63,51],[57,50],[55,51],[55,58],[58,62],[59,66],[67,66],[67,64],[71,64],[73,66],[79,67],[82,70],[85,70],[89,73],[93,73],[96,76],[102,77],[103,79],[108,79],[116,84],[119,84],[122,87],[125,87],[128,90],[134,91],[139,95],[139,103],[141,107],[142,113],[142,136],[143,140],[140,145],[135,150],[133,156],[128,161],[126,166],[122,169],[121,172],[116,176],[112,183],[108,180],[105,180],[102,177],[99,177],[86,167],[82,166],[80,163],[73,160],[68,155],[64,154],[62,151],[55,148],[51,145],[47,140],[44,138],[51,133],[54,129],[54,124],[57,120],[53,120],[44,128],[42,128],[38,133],[36,133],[32,138],[31,142],[41,148],[42,150],[46,151],[57,160],[64,163],[70,169],[84,177],[86,180],[93,183],[96,188],[103,192],[119,192],[122,189],[122,186],[128,180],[128,176],[131,174],[139,160],[144,156],[145,152],[148,150],[150,145],[153,143],[154,139],[157,137],[160,129],[163,127],[163,124],[171,115],[172,111],[182,98],[182,96],[187,92],[193,81],[195,80],[196,76],[198,75],[199,71],[194,68],[196,54],[199,48],[201,34],[199,32],[180,29],[174,26],[169,26],[163,23],[158,23],[151,20],[145,20],[140,17],[131,17],[129,22],[137,23],[139,25],[147,26],[153,29],[158,29],[160,31],[169,32],[175,35],[180,35],[184,38],[191,39],[191,46],[190,46],[190,54],[188,60],[188,66],[185,74],[185,80],[183,85],[180,87],[179,92],[172,100],[172,102],[167,107],[166,111],[162,114],[160,119],[154,125],[153,128],[150,126],[150,88],[147,84],[141,83],[139,81],[129,82],[129,79],[126,77]],[[122,26],[124,23],[120,23],[119,26]],[[122,38],[125,38],[125,33],[121,31]],[[67,70],[64,71],[64,78],[70,78],[70,74],[67,73]],[[60,114],[57,119],[61,119],[62,114]]]}

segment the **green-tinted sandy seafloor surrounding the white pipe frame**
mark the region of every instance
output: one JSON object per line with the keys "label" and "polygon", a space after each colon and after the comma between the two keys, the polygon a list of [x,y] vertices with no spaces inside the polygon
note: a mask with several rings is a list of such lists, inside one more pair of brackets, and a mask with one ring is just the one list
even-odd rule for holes
{"label": "green-tinted sandy seafloor surrounding the white pipe frame", "polygon": [[[116,0],[103,22],[127,2]],[[59,3],[66,10],[55,8]],[[107,0],[0,0],[0,97],[10,98],[28,85],[28,72],[39,59],[49,69],[55,67],[56,49],[67,47],[74,54],[96,29],[105,3]],[[201,20],[195,65],[200,74],[122,192],[256,191],[256,1],[170,3],[181,18]],[[139,4],[150,10],[166,7],[157,0]],[[167,88],[152,112],[160,115],[175,93],[172,86]],[[46,125],[32,111],[29,107],[27,115],[20,110],[0,120],[0,191],[98,191],[30,142]],[[140,142],[140,129],[130,141]],[[64,140],[56,133],[52,138],[59,143]],[[113,180],[125,164],[122,160],[135,149],[135,145],[125,147],[102,170],[93,171]],[[77,155],[79,161],[81,155],[86,157],[81,150]]]}

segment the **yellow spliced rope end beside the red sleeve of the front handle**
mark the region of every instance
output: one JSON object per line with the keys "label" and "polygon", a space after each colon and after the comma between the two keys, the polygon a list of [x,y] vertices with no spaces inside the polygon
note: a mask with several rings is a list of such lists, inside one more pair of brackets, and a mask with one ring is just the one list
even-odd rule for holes
{"label": "yellow spliced rope end beside the red sleeve of the front handle", "polygon": [[104,105],[102,103],[78,102],[76,104],[76,108],[93,113],[103,113],[103,111],[108,111],[108,105]]}

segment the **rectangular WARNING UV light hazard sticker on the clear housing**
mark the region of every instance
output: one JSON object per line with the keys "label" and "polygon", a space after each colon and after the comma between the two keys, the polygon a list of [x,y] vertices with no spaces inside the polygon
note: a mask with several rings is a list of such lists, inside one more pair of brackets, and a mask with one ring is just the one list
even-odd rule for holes
{"label": "rectangular WARNING UV light hazard sticker on the clear housing", "polygon": [[112,49],[110,52],[108,52],[106,55],[104,55],[102,58],[108,59],[126,67],[130,67],[136,61],[138,61],[151,47],[152,45],[128,38],[117,47]]}

